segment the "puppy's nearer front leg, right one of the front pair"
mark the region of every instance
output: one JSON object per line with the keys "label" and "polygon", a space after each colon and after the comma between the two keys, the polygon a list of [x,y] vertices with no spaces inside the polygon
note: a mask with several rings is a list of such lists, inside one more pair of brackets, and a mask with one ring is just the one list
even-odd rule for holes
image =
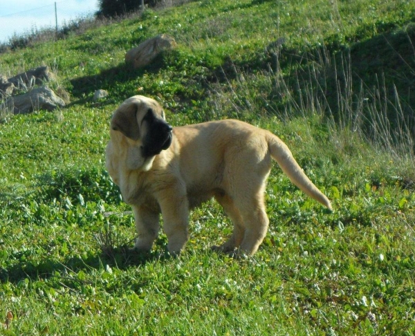
{"label": "puppy's nearer front leg, right one of the front pair", "polygon": [[168,239],[167,250],[173,255],[180,254],[189,239],[187,196],[176,190],[163,190],[163,198],[159,200],[159,205],[163,215],[163,229]]}

